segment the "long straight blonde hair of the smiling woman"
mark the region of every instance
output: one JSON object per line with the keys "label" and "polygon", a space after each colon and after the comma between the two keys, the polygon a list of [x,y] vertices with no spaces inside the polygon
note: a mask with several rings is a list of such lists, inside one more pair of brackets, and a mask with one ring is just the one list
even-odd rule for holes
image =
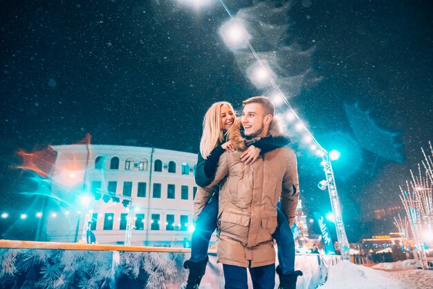
{"label": "long straight blonde hair of the smiling woman", "polygon": [[236,118],[232,105],[227,101],[219,101],[209,107],[203,119],[203,134],[200,141],[200,153],[203,159],[207,159],[210,152],[224,141],[225,136],[221,125],[221,107],[223,105],[228,105],[234,118]]}

